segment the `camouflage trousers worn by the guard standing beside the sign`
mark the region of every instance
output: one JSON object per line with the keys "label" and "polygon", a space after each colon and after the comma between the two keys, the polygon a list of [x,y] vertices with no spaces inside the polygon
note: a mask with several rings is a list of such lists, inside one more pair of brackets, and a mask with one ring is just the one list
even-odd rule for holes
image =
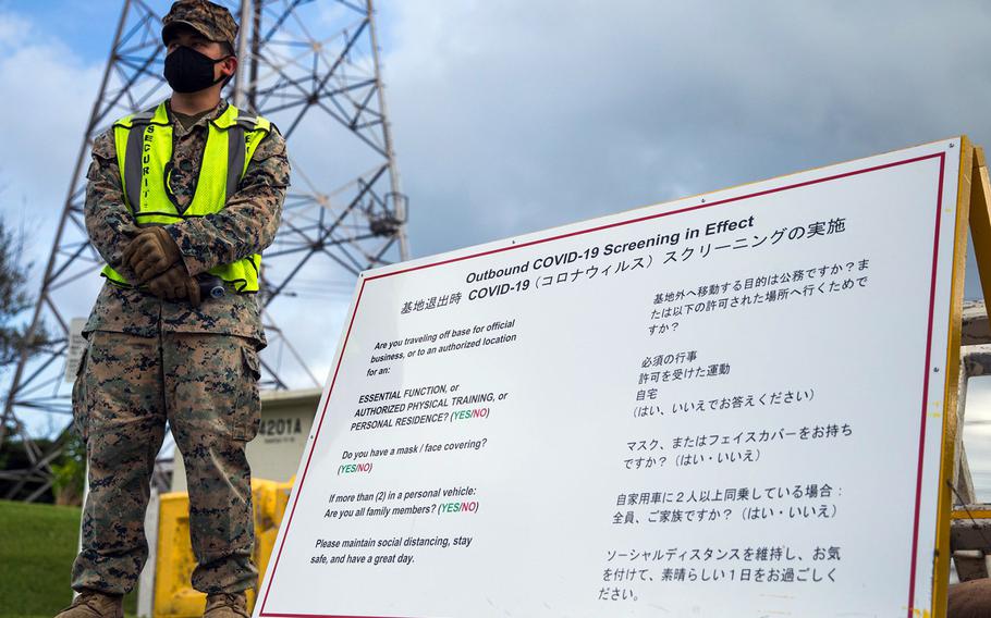
{"label": "camouflage trousers worn by the guard standing beside the sign", "polygon": [[215,593],[256,585],[244,447],[260,421],[258,375],[254,343],[243,337],[89,335],[73,387],[89,464],[73,589],[123,594],[137,582],[148,557],[145,510],[167,420],[188,480],[193,586]]}

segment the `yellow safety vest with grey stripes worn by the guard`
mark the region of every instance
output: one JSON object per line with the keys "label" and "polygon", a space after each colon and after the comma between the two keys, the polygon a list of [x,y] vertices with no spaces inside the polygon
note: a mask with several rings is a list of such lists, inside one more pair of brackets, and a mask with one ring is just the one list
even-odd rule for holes
{"label": "yellow safety vest with grey stripes worn by the guard", "polygon": [[[184,212],[179,211],[166,188],[166,170],[172,161],[172,123],[166,103],[113,124],[124,201],[139,226],[169,225],[220,212],[237,190],[258,144],[271,131],[269,121],[241,115],[234,106],[228,106],[220,118],[207,124],[207,145],[196,193]],[[253,293],[258,292],[260,269],[261,256],[255,254],[208,272],[238,293]],[[131,286],[109,264],[100,274],[118,285]]]}

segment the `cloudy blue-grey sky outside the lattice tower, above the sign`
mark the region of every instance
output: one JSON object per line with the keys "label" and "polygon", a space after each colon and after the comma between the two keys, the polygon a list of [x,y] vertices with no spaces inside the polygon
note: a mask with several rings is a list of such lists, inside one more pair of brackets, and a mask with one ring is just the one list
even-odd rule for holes
{"label": "cloudy blue-grey sky outside the lattice tower, above the sign", "polygon": [[[9,145],[0,203],[28,233],[36,264],[51,246],[120,8],[0,0],[0,84],[15,94],[0,97]],[[991,144],[987,2],[377,8],[413,257],[961,133]],[[291,150],[319,152],[305,139]],[[306,166],[320,174],[319,160]],[[971,259],[969,298],[980,296],[975,272]],[[335,345],[326,333],[340,332],[350,300],[342,281],[285,318],[323,318],[297,346],[320,379]],[[91,300],[78,302],[85,316]],[[980,427],[968,435],[983,436]],[[991,487],[991,448],[974,442],[971,457],[987,462],[975,470]]]}

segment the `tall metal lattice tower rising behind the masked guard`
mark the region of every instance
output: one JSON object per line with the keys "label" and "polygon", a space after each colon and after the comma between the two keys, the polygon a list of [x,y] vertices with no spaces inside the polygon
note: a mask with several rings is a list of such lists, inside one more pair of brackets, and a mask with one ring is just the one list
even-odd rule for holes
{"label": "tall metal lattice tower rising behind the masked guard", "polygon": [[[117,119],[168,97],[160,33],[170,3],[123,2],[29,326],[28,341],[42,324],[49,337],[39,353],[22,356],[3,401],[0,445],[12,425],[30,460],[23,470],[0,471],[0,479],[14,482],[3,497],[33,500],[52,484],[49,465],[71,429],[70,384],[64,380],[70,317],[88,314],[101,285],[102,260],[83,221],[89,149]],[[258,300],[270,347],[261,359],[262,385],[319,385],[292,343],[292,329],[280,329],[274,318],[285,313],[285,323],[296,324],[291,311],[301,307],[319,314],[320,307],[307,297],[321,299],[328,288],[343,293],[362,270],[407,257],[406,200],[387,118],[372,1],[221,3],[241,24],[240,67],[227,96],[280,127],[293,168],[282,226],[265,251]],[[294,363],[289,370],[282,364],[285,351]],[[64,427],[47,450],[28,431],[39,415]]]}

